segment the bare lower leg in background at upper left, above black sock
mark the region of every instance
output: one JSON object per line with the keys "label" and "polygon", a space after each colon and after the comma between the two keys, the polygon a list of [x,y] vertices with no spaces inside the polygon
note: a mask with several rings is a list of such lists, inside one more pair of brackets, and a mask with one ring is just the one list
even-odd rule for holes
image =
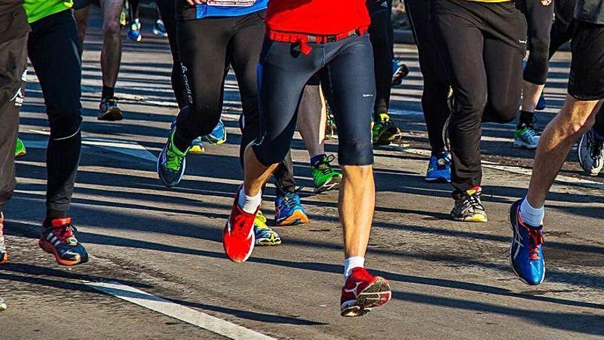
{"label": "bare lower leg in background at upper left, above black sock", "polygon": [[103,0],[103,49],[101,51],[101,72],[103,85],[115,87],[121,63],[121,37],[119,36],[119,16],[124,7],[122,0]]}

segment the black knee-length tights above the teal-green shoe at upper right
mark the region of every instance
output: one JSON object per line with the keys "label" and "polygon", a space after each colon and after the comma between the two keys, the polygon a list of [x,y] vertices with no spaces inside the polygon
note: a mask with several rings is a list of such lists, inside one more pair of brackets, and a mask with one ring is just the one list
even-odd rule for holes
{"label": "black knee-length tights above the teal-green shoe at upper right", "polygon": [[517,0],[516,7],[526,18],[529,30],[529,60],[524,67],[524,80],[543,85],[547,80],[549,66],[550,30],[554,4],[543,5],[541,0]]}

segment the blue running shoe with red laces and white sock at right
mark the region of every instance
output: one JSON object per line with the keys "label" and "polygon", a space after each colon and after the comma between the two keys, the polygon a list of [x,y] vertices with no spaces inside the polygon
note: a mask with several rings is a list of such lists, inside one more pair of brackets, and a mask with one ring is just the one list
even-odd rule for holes
{"label": "blue running shoe with red laces and white sock at right", "polygon": [[543,225],[536,228],[525,225],[520,217],[520,203],[522,200],[516,201],[510,208],[510,225],[513,232],[510,264],[522,282],[540,284],[545,278]]}

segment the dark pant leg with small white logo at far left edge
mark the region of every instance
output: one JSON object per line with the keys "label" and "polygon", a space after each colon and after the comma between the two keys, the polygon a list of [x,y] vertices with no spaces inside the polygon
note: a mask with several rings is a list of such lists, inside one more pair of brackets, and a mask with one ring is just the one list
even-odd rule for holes
{"label": "dark pant leg with small white logo at far left edge", "polygon": [[[0,23],[0,29],[3,28]],[[19,109],[25,91],[21,75],[27,67],[26,44],[27,34],[8,40],[0,37],[0,213],[15,186],[14,144],[19,133]]]}

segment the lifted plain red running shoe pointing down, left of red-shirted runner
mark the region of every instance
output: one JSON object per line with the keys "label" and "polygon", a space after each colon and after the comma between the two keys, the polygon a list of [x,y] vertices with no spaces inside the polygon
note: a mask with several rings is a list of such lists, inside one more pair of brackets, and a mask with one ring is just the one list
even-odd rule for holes
{"label": "lifted plain red running shoe pointing down, left of red-shirted runner", "polygon": [[233,262],[244,262],[254,250],[254,219],[256,214],[248,214],[237,204],[239,192],[235,196],[235,203],[231,210],[231,216],[227,220],[222,232],[222,246],[227,258]]}

